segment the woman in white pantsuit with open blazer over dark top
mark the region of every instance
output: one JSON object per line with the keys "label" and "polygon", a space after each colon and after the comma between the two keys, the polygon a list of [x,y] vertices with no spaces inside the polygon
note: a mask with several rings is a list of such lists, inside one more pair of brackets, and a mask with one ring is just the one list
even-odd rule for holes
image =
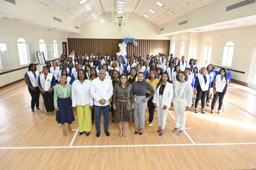
{"label": "woman in white pantsuit with open blazer over dark top", "polygon": [[157,117],[159,128],[157,133],[163,135],[164,127],[166,125],[166,119],[168,115],[169,107],[171,106],[173,96],[173,85],[170,82],[170,78],[167,72],[164,72],[157,83],[154,93],[154,107],[157,108]]}

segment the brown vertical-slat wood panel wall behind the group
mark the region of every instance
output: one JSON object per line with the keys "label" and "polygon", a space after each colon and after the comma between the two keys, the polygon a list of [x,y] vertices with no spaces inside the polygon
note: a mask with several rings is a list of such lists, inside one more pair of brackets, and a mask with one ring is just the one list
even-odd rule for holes
{"label": "brown vertical-slat wood panel wall behind the group", "polygon": [[[126,47],[127,54],[137,56],[143,55],[158,55],[159,52],[168,55],[170,51],[170,40],[136,40],[138,46],[134,46],[132,43],[128,43]],[[90,56],[91,53],[98,55],[101,53],[105,56],[108,52],[110,56],[116,56],[116,52],[119,52],[119,43],[122,43],[121,39],[85,39],[85,38],[68,38],[68,52],[75,52],[79,55],[87,53]]]}

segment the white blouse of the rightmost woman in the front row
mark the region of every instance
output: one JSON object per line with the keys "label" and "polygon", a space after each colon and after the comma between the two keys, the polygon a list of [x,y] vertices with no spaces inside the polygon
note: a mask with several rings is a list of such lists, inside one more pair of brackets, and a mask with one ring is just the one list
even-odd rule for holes
{"label": "white blouse of the rightmost woman in the front row", "polygon": [[192,86],[187,81],[184,83],[177,81],[175,83],[173,92],[173,99],[183,103],[188,103],[188,107],[192,106]]}

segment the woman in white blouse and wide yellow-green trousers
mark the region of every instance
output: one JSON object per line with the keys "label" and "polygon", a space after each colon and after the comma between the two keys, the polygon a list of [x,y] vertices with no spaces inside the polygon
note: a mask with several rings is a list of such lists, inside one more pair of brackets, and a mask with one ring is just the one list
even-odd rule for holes
{"label": "woman in white blouse and wide yellow-green trousers", "polygon": [[90,84],[85,71],[80,69],[78,79],[72,84],[72,106],[77,113],[79,135],[85,132],[86,136],[89,136],[92,130],[93,97],[90,95]]}

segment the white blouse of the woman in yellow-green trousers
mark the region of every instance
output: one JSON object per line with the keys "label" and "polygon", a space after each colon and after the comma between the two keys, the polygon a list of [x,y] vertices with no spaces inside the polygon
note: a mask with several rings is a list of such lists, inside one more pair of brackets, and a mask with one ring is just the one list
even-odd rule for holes
{"label": "white blouse of the woman in yellow-green trousers", "polygon": [[[93,106],[93,97],[90,95],[90,80],[85,80],[83,84],[76,80],[72,84],[72,106],[85,106],[90,103]],[[90,96],[90,97],[89,97]]]}

